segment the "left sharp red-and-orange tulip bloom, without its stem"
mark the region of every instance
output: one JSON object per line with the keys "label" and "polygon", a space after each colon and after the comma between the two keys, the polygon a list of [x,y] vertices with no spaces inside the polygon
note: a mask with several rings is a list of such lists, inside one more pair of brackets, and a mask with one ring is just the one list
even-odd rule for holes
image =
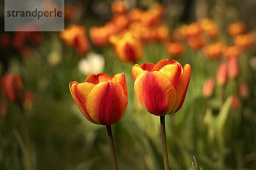
{"label": "left sharp red-and-orange tulip bloom, without its stem", "polygon": [[113,77],[90,74],[82,83],[70,82],[69,87],[76,105],[90,122],[113,125],[125,115],[128,94],[123,73]]}

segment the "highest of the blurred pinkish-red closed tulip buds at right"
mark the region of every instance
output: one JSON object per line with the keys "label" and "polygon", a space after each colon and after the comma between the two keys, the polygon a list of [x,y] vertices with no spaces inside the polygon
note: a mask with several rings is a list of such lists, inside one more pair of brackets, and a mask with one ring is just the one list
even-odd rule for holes
{"label": "highest of the blurred pinkish-red closed tulip buds at right", "polygon": [[236,56],[231,56],[228,61],[228,76],[236,79],[240,74],[239,62]]}

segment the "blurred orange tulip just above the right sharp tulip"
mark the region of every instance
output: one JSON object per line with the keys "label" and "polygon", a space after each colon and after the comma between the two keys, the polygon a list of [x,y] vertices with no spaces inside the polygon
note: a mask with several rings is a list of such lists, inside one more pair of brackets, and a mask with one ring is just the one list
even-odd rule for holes
{"label": "blurred orange tulip just above the right sharp tulip", "polygon": [[185,46],[180,42],[167,42],[165,45],[166,52],[170,57],[180,57],[185,51]]}

